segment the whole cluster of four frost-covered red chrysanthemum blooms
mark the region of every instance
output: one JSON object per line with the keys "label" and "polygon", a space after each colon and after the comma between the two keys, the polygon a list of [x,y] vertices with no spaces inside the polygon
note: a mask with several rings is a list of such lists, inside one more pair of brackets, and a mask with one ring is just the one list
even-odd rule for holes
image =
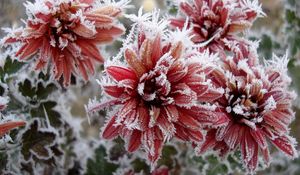
{"label": "whole cluster of four frost-covered red chrysanthemum blooms", "polygon": [[[127,1],[43,0],[27,3],[26,28],[11,31],[5,44],[21,42],[19,58],[36,58],[69,85],[78,71],[88,79],[104,62],[98,44],[124,32],[115,21]],[[102,136],[121,136],[129,152],[142,148],[152,167],[165,142],[190,142],[197,154],[239,150],[249,172],[268,144],[296,157],[289,136],[294,119],[287,58],[259,63],[257,43],[241,37],[263,15],[257,0],[186,0],[174,18],[159,12],[127,15],[134,24],[120,53],[106,60],[99,81],[105,96],[89,112],[114,107]],[[122,59],[124,57],[124,59]]]}

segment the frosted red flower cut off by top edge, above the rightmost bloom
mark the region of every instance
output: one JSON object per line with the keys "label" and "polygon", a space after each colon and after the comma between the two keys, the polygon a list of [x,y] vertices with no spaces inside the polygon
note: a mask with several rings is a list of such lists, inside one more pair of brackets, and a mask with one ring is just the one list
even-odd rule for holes
{"label": "frosted red flower cut off by top edge, above the rightmost bloom", "polygon": [[245,44],[238,33],[251,27],[253,21],[263,15],[257,0],[182,0],[182,15],[171,19],[171,25],[183,28],[186,18],[192,28],[192,40],[200,50],[225,55],[232,45]]}

